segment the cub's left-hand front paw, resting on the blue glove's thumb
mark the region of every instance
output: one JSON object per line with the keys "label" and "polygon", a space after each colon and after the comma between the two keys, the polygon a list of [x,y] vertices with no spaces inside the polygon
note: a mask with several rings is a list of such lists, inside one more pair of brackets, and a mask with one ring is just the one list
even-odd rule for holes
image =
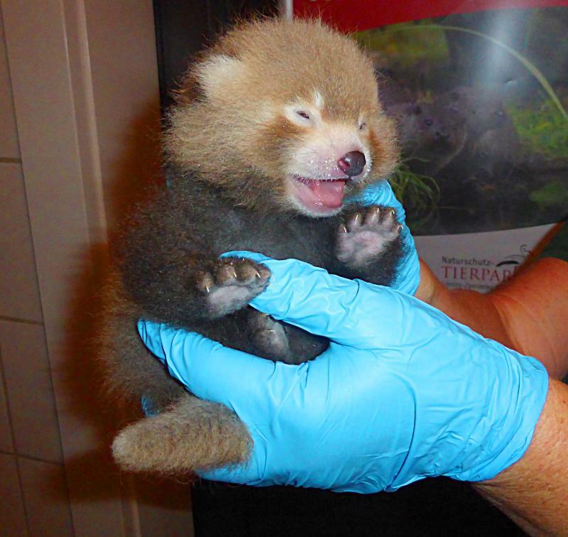
{"label": "cub's left-hand front paw, resting on the blue glove's thumb", "polygon": [[271,273],[251,259],[224,257],[212,271],[197,273],[197,289],[204,294],[213,318],[244,308],[264,291]]}

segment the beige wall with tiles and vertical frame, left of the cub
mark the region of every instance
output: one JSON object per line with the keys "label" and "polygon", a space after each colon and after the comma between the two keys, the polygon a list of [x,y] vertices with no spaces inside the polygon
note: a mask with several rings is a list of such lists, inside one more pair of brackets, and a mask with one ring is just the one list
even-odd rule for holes
{"label": "beige wall with tiles and vertical frame, left of the cub", "polygon": [[187,487],[121,477],[97,387],[68,386],[89,378],[69,382],[75,276],[105,240],[114,185],[159,161],[152,13],[0,0],[0,536],[192,535]]}

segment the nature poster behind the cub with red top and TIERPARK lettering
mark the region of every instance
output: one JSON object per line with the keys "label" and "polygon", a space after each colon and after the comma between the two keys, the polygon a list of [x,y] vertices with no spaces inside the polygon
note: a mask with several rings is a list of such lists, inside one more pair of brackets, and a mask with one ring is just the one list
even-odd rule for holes
{"label": "nature poster behind the cub with red top and TIERPARK lettering", "polygon": [[488,291],[568,214],[567,1],[295,1],[373,58],[420,256]]}

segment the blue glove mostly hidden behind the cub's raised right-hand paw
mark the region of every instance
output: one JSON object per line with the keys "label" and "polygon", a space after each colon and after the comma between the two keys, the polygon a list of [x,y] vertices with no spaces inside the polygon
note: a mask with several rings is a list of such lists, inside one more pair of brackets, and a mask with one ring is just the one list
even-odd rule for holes
{"label": "blue glove mostly hidden behind the cub's raised right-hand paw", "polygon": [[397,268],[396,280],[391,287],[408,295],[414,295],[420,283],[420,263],[418,262],[413,236],[406,225],[405,210],[396,199],[391,185],[388,184],[387,180],[381,180],[369,185],[360,195],[347,201],[359,202],[364,205],[386,205],[386,207],[393,207],[396,210],[398,221],[403,224],[400,237],[403,239],[405,251]]}

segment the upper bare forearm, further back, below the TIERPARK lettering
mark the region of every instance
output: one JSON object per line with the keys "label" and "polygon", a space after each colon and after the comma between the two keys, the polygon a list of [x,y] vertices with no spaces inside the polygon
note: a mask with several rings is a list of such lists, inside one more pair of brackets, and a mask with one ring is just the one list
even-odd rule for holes
{"label": "upper bare forearm, further back, below the TIERPARK lettering", "polygon": [[568,263],[544,258],[486,295],[448,289],[421,261],[417,298],[521,354],[536,357],[552,379],[568,374]]}

